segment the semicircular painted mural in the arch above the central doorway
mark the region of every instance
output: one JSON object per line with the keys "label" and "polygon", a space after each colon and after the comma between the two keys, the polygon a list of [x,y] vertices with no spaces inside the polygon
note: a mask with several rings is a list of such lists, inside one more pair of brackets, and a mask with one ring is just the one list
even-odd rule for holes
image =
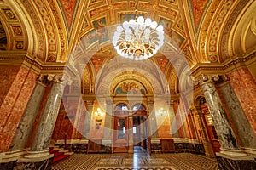
{"label": "semicircular painted mural in the arch above the central doorway", "polygon": [[114,91],[115,94],[145,94],[145,88],[137,81],[120,82]]}

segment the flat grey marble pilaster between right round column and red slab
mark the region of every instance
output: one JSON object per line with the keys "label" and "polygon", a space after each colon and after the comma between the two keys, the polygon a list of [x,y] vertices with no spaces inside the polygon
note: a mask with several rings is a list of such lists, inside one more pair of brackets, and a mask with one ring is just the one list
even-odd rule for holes
{"label": "flat grey marble pilaster between right round column and red slab", "polygon": [[256,135],[247,120],[247,116],[241,108],[240,102],[236,97],[230,82],[227,81],[220,85],[220,91],[227,108],[230,111],[232,122],[236,127],[236,132],[241,139],[244,147],[256,149]]}

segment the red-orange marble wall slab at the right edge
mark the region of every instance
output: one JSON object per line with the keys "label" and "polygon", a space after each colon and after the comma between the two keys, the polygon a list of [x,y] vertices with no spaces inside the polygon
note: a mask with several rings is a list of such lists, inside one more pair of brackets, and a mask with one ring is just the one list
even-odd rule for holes
{"label": "red-orange marble wall slab at the right edge", "polygon": [[253,76],[247,68],[243,68],[233,71],[229,77],[231,86],[256,134],[256,83]]}

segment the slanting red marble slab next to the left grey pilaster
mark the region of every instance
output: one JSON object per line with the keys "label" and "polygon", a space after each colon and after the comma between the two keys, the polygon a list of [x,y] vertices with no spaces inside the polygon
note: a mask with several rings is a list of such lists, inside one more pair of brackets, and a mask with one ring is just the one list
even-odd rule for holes
{"label": "slanting red marble slab next to the left grey pilaster", "polygon": [[3,100],[3,105],[0,108],[0,150],[2,151],[9,150],[9,145],[15,135],[16,128],[19,126],[20,118],[26,109],[26,104],[35,86],[36,77],[37,75],[31,71],[20,67],[14,82],[9,88],[8,94]]}

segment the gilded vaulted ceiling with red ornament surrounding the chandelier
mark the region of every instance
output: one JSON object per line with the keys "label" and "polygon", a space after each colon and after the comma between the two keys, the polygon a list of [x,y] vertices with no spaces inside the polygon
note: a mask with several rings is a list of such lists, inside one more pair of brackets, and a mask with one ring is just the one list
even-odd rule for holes
{"label": "gilded vaulted ceiling with red ornament surrounding the chandelier", "polygon": [[166,43],[151,61],[176,92],[174,80],[185,67],[179,58],[191,68],[222,63],[255,49],[253,0],[0,0],[0,50],[26,51],[44,65],[73,58],[73,65],[84,69],[78,61],[93,48],[90,59],[84,59],[83,71],[90,74],[84,74],[85,89],[117,56],[111,44],[113,31],[135,17],[136,3],[138,15],[164,26]]}

